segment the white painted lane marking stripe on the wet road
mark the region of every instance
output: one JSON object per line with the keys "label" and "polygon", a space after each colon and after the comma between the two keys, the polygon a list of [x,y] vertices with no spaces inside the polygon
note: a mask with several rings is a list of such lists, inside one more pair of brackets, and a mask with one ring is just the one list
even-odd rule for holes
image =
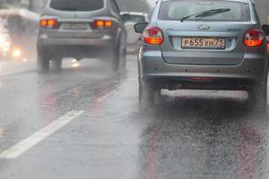
{"label": "white painted lane marking stripe on the wet road", "polygon": [[66,124],[72,122],[79,115],[82,115],[82,113],[84,113],[84,111],[70,111],[51,124],[48,124],[39,132],[35,132],[27,139],[17,143],[11,149],[5,150],[2,154],[0,154],[0,158],[14,159],[20,157],[24,152],[33,148],[40,141],[45,140],[49,135],[64,127]]}

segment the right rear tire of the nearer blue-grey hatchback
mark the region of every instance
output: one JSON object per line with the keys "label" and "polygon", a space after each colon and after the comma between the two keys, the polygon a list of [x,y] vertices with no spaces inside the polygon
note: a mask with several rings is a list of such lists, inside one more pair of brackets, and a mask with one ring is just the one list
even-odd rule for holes
{"label": "right rear tire of the nearer blue-grey hatchback", "polygon": [[248,90],[248,107],[258,115],[265,115],[267,111],[267,84],[259,82]]}

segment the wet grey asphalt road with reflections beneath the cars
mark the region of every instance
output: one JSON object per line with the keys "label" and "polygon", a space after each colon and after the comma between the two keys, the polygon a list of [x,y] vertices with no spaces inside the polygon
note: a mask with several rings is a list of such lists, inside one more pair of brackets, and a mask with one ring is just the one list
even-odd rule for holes
{"label": "wet grey asphalt road with reflections beneath the cars", "polygon": [[0,179],[269,178],[269,119],[247,113],[245,92],[162,91],[142,115],[137,85],[134,55],[117,75],[95,60],[48,73],[0,62],[2,157],[26,140],[0,156]]}

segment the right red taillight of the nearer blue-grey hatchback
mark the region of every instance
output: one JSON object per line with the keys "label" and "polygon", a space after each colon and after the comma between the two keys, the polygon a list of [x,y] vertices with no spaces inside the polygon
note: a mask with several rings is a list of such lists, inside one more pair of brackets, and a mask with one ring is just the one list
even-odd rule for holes
{"label": "right red taillight of the nearer blue-grey hatchback", "polygon": [[265,36],[262,30],[247,30],[245,33],[244,44],[247,47],[259,47],[264,44]]}

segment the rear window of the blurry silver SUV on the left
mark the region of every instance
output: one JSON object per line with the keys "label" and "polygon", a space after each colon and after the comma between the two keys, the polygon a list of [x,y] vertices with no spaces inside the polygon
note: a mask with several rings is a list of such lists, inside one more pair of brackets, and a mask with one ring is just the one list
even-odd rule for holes
{"label": "rear window of the blurry silver SUV on the left", "polygon": [[104,7],[104,0],[51,0],[50,7],[60,11],[96,11]]}

